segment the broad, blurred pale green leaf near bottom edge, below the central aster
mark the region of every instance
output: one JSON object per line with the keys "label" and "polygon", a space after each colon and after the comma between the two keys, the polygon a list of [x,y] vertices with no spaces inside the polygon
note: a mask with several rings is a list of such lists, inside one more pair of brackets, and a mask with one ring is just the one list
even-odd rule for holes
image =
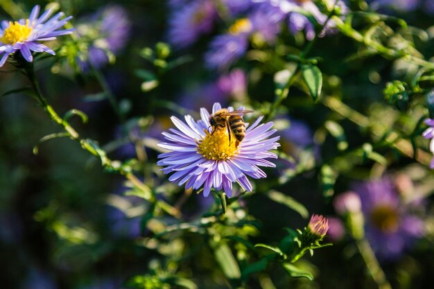
{"label": "broad, blurred pale green leaf near bottom edge, below the central aster", "polygon": [[216,261],[223,270],[223,274],[229,279],[239,279],[241,277],[240,268],[229,246],[226,243],[212,242],[211,247],[214,249]]}

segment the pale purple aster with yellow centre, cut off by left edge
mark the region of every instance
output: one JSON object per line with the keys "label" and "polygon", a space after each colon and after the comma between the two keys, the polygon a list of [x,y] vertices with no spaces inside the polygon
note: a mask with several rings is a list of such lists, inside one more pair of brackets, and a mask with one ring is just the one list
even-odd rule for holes
{"label": "pale purple aster with yellow centre, cut off by left edge", "polygon": [[23,58],[28,62],[33,61],[32,51],[55,55],[52,49],[39,42],[55,40],[56,36],[72,33],[73,29],[58,30],[64,24],[67,24],[67,21],[72,16],[60,19],[64,16],[64,13],[59,12],[49,19],[53,10],[46,10],[38,17],[39,12],[40,6],[37,5],[32,9],[28,19],[20,19],[15,22],[3,20],[1,22],[0,54],[3,53],[3,55],[0,59],[0,67],[5,64],[9,55],[15,53],[15,51],[20,51]]}

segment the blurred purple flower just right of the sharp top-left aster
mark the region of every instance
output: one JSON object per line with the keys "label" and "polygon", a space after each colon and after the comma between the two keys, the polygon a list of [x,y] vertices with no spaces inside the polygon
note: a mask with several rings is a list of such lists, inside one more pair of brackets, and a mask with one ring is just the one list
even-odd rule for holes
{"label": "blurred purple flower just right of the sharp top-left aster", "polygon": [[[130,36],[131,23],[121,6],[105,6],[92,17],[83,19],[78,34],[89,37],[88,61],[94,67],[103,67],[109,62],[109,55],[116,55],[126,46]],[[98,37],[95,38],[95,35]],[[80,63],[87,69],[87,63]]]}

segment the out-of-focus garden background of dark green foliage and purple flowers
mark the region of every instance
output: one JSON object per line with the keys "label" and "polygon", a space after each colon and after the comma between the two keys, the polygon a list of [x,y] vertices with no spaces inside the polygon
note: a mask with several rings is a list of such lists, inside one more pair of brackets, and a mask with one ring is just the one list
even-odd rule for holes
{"label": "out-of-focus garden background of dark green foliage and purple flowers", "polygon": [[[6,21],[35,5],[73,15],[75,33],[50,44],[56,56],[35,60],[42,91],[59,114],[87,114],[87,123],[70,119],[80,136],[179,213],[155,211],[71,139],[38,145],[61,130],[31,96],[8,93],[28,82],[6,64],[0,288],[390,288],[367,269],[376,260],[392,288],[431,288],[434,175],[422,132],[434,69],[416,60],[434,56],[434,1],[336,1],[353,30],[327,19],[335,1],[276,2],[0,0]],[[320,94],[298,73],[279,98],[302,64],[320,71]],[[217,194],[184,190],[156,165],[169,117],[199,119],[215,102],[254,110],[250,123],[266,115],[281,137],[277,167],[264,169],[254,193],[238,192],[225,215]],[[348,191],[361,202],[367,243],[338,207]],[[277,246],[312,213],[329,218],[333,243],[298,261],[313,280],[279,262],[258,265],[267,252],[254,244]],[[213,247],[220,239],[223,260]]]}

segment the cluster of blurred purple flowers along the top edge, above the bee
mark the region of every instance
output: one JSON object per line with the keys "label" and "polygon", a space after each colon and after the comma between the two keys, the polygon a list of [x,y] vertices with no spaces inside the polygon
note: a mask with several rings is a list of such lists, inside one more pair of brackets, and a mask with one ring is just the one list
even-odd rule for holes
{"label": "cluster of blurred purple flowers along the top edge, above the bee", "polygon": [[[327,1],[333,5],[335,1]],[[292,33],[304,31],[307,40],[315,37],[315,23],[324,25],[327,15],[313,1],[297,0],[225,0],[217,6],[211,0],[171,1],[173,10],[169,23],[169,42],[186,47],[200,35],[210,34],[218,21],[225,21],[229,28],[211,40],[205,53],[207,66],[226,69],[248,50],[250,41],[272,44],[281,28],[286,26]],[[342,13],[347,8],[338,1]],[[332,27],[329,21],[326,28]],[[327,30],[327,29],[326,29]],[[324,30],[325,31],[325,30]],[[325,32],[321,31],[320,35]]]}

